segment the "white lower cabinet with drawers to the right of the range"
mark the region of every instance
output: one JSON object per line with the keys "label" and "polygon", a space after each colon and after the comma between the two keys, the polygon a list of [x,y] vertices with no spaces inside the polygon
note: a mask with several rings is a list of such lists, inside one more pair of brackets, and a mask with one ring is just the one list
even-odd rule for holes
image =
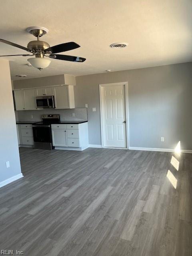
{"label": "white lower cabinet with drawers to the right of the range", "polygon": [[88,125],[52,124],[52,141],[56,149],[84,150],[88,148]]}

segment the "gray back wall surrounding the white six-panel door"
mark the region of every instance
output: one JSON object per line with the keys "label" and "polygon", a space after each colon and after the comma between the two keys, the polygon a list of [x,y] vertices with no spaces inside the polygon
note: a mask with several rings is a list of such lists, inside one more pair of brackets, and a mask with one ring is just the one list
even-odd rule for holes
{"label": "gray back wall surrounding the white six-panel door", "polygon": [[99,84],[125,81],[130,146],[175,148],[181,141],[182,149],[192,150],[192,62],[77,76],[75,103],[88,104],[89,143],[101,144]]}

